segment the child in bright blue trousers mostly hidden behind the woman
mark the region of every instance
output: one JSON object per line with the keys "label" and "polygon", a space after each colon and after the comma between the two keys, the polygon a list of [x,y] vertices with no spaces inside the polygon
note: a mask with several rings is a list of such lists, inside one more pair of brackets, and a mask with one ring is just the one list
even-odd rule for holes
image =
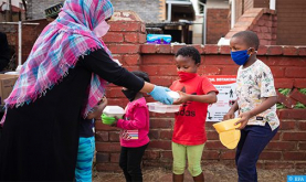
{"label": "child in bright blue trousers mostly hidden behind the woman", "polygon": [[95,154],[95,120],[101,120],[101,115],[107,105],[106,97],[94,107],[87,118],[80,121],[80,141],[77,161],[75,167],[76,182],[91,182],[93,160]]}

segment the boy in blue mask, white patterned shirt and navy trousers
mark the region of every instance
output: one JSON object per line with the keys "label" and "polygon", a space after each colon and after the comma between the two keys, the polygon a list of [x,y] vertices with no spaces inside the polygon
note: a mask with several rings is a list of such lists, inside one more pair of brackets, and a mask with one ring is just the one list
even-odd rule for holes
{"label": "boy in blue mask, white patterned shirt and navy trousers", "polygon": [[239,182],[257,181],[256,162],[279,126],[273,75],[270,67],[256,57],[258,45],[260,40],[252,31],[239,32],[230,41],[232,60],[240,65],[238,99],[224,120],[234,118],[239,110],[241,120],[236,125],[241,124],[241,139],[235,157]]}

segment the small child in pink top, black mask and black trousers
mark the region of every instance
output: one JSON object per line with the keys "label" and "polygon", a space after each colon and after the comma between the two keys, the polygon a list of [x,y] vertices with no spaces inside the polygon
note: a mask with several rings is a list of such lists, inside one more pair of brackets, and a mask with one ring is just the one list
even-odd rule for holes
{"label": "small child in pink top, black mask and black trousers", "polygon": [[[150,82],[144,72],[131,72],[145,82]],[[124,95],[129,99],[124,119],[117,119],[113,127],[120,131],[119,165],[124,171],[126,181],[143,181],[141,160],[149,143],[149,110],[141,93],[123,88]]]}

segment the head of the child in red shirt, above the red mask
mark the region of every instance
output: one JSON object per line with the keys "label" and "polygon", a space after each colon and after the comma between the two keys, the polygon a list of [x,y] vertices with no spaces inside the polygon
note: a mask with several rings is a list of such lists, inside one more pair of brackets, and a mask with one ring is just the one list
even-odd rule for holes
{"label": "head of the child in red shirt, above the red mask", "polygon": [[181,47],[176,54],[178,72],[197,73],[201,63],[201,55],[193,46]]}

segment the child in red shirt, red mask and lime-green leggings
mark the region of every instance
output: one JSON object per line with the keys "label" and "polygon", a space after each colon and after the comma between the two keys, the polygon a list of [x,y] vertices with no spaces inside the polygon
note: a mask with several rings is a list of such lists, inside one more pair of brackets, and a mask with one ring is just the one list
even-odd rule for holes
{"label": "child in red shirt, red mask and lime-green leggings", "polygon": [[199,51],[186,46],[176,54],[176,65],[179,79],[175,81],[170,89],[179,92],[182,103],[176,113],[172,136],[173,181],[183,181],[186,157],[188,170],[197,182],[204,181],[201,169],[201,158],[207,141],[205,119],[208,105],[217,101],[218,90],[204,76],[197,71],[201,63]]}

